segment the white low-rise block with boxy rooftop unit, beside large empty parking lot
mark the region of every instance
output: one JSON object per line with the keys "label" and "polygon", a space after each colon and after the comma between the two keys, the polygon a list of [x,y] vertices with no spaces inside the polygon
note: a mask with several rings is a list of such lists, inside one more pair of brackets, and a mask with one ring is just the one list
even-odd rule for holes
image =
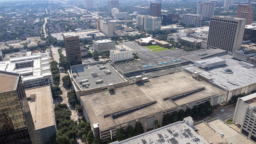
{"label": "white low-rise block with boxy rooftop unit, beside large empty parking lot", "polygon": [[132,49],[125,45],[117,45],[116,50],[110,50],[110,59],[114,62],[132,59]]}

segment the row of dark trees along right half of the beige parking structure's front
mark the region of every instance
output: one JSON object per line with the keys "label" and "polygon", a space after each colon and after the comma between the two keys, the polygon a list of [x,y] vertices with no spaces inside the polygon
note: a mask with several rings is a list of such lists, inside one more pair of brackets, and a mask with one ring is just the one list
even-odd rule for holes
{"label": "row of dark trees along right half of the beige parking structure's front", "polygon": [[179,110],[172,112],[172,114],[165,114],[163,118],[162,125],[166,126],[167,124],[172,124],[174,122],[182,121],[183,118],[187,116],[191,116],[194,120],[211,114],[213,112],[213,107],[209,101],[205,102],[204,104],[199,104],[198,106],[194,106],[192,109],[187,108],[186,112],[184,110]]}

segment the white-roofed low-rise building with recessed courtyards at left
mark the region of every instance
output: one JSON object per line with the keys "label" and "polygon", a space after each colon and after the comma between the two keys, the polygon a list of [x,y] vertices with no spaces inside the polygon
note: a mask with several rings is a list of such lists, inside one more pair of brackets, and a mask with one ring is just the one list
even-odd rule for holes
{"label": "white-roofed low-rise building with recessed courtyards at left", "polygon": [[19,73],[24,88],[53,86],[50,62],[46,53],[10,58],[0,63],[0,70]]}

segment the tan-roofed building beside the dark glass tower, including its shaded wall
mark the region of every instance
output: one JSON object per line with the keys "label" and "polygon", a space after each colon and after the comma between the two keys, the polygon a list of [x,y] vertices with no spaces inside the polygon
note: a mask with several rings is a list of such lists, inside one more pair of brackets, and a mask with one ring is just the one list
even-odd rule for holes
{"label": "tan-roofed building beside the dark glass tower, including its shaded wall", "polygon": [[40,142],[50,142],[57,130],[51,87],[30,88],[25,93]]}

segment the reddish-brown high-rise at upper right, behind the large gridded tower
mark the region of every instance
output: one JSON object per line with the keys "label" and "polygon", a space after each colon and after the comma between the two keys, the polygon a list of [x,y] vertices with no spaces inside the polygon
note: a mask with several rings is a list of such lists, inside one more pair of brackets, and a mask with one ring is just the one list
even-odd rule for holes
{"label": "reddish-brown high-rise at upper right, behind the large gridded tower", "polygon": [[252,24],[252,6],[250,4],[243,5],[238,4],[236,9],[236,17],[237,18],[246,18],[246,25]]}

